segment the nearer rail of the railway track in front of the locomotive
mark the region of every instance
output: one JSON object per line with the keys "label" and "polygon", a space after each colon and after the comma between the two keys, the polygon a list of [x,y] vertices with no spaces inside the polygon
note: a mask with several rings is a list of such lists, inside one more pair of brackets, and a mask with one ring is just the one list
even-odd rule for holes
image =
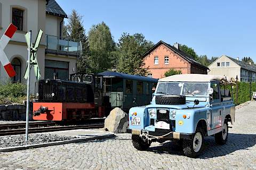
{"label": "nearer rail of the railway track in front of the locomotive", "polygon": [[[54,131],[65,131],[65,130],[75,130],[75,129],[95,129],[103,128],[104,123],[98,124],[86,124],[86,125],[72,125],[72,126],[52,126],[44,128],[29,128],[29,133],[42,133],[42,132],[54,132]],[[25,134],[26,129],[10,129],[0,131],[0,136],[15,135],[15,134]]]}

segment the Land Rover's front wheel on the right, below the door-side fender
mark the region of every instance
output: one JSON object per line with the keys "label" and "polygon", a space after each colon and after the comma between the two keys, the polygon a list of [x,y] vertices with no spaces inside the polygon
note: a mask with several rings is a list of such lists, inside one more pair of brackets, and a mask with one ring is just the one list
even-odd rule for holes
{"label": "Land Rover's front wheel on the right, below the door-side fender", "polygon": [[[195,144],[195,146],[194,146]],[[194,134],[193,140],[184,139],[182,142],[182,149],[184,155],[191,158],[196,158],[200,155],[204,148],[204,130],[202,128],[197,128]]]}

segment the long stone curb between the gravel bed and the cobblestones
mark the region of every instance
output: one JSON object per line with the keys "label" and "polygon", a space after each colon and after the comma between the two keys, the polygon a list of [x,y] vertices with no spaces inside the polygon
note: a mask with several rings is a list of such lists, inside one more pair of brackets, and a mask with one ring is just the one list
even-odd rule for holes
{"label": "long stone curb between the gravel bed and the cobblestones", "polygon": [[32,148],[49,147],[49,146],[55,146],[55,145],[65,145],[69,143],[78,143],[78,142],[85,142],[90,140],[113,138],[113,137],[115,137],[115,134],[111,133],[111,134],[100,135],[98,137],[78,138],[78,139],[71,139],[71,140],[64,140],[64,141],[39,143],[34,145],[23,145],[23,146],[16,146],[16,147],[0,148],[0,152],[11,152],[11,151],[25,150],[25,149],[32,149]]}

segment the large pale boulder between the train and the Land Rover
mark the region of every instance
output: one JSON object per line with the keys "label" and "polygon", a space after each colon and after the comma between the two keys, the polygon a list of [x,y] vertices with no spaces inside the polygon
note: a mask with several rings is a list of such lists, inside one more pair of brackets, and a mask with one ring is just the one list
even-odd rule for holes
{"label": "large pale boulder between the train and the Land Rover", "polygon": [[121,108],[114,108],[105,119],[105,129],[114,133],[125,133],[128,126],[128,115]]}

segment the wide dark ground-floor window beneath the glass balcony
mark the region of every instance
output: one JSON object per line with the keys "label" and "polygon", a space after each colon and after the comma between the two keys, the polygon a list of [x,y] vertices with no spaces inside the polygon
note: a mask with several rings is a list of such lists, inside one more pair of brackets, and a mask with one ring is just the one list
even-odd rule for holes
{"label": "wide dark ground-floor window beneath the glass balcony", "polygon": [[68,62],[45,60],[45,79],[68,80]]}

